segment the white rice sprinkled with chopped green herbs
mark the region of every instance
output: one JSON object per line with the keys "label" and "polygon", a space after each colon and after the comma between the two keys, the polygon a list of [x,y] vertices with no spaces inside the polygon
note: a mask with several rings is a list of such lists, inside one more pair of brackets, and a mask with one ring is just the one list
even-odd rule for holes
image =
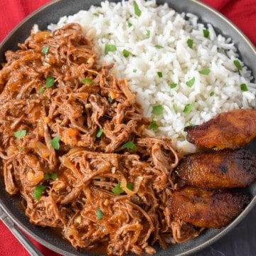
{"label": "white rice sprinkled with chopped green herbs", "polygon": [[[234,64],[239,56],[231,39],[217,35],[210,24],[198,23],[193,14],[178,14],[154,0],[105,1],[48,28],[70,22],[80,23],[93,38],[101,64],[114,63],[112,72],[127,78],[144,114],[158,125],[156,135],[171,137],[184,152],[194,150],[183,132],[187,125],[256,107],[256,84],[241,60],[242,69]],[[113,51],[105,53],[106,45]],[[159,105],[160,114],[153,114]]]}

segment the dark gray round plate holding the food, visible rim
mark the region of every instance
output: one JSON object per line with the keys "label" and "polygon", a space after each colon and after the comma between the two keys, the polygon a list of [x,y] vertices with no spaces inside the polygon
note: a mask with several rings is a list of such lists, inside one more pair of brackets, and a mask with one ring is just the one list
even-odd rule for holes
{"label": "dark gray round plate holding the food, visible rim", "polygon": [[[217,11],[202,4],[199,1],[194,0],[166,0],[157,1],[158,4],[168,2],[178,12],[191,12],[201,18],[203,23],[212,23],[215,30],[218,33],[222,33],[224,36],[233,38],[235,45],[240,52],[240,58],[244,61],[245,65],[250,67],[254,77],[256,77],[255,66],[255,47],[252,43],[243,35],[241,31],[236,28],[233,23],[228,21],[225,17],[219,14]],[[86,0],[58,0],[51,1],[50,4],[43,6],[43,8],[34,12],[22,21],[14,31],[11,31],[9,36],[6,37],[4,42],[0,46],[0,63],[4,62],[4,52],[6,50],[16,50],[17,43],[24,41],[30,34],[31,27],[34,23],[37,23],[39,28],[47,28],[49,23],[56,23],[61,16],[75,14],[81,9],[88,9],[91,4],[100,4],[100,0],[86,1]],[[256,143],[252,143],[250,148],[256,152]],[[184,242],[181,245],[174,245],[166,250],[161,250],[156,247],[156,255],[191,255],[204,247],[211,245],[216,240],[223,237],[231,229],[238,225],[240,221],[245,218],[245,215],[252,210],[256,204],[256,183],[253,183],[250,187],[246,188],[247,192],[252,195],[252,201],[247,208],[236,218],[233,223],[230,223],[227,227],[220,230],[209,229],[203,232],[198,238]],[[63,255],[95,255],[91,252],[78,252],[68,242],[62,240],[62,238],[53,234],[48,228],[41,228],[31,225],[26,218],[26,215],[21,210],[18,198],[10,197],[4,190],[4,183],[0,181],[0,203],[4,207],[6,213],[14,220],[14,223],[18,225],[23,231],[31,235],[35,240],[42,245],[50,248],[55,252],[59,252]]]}

